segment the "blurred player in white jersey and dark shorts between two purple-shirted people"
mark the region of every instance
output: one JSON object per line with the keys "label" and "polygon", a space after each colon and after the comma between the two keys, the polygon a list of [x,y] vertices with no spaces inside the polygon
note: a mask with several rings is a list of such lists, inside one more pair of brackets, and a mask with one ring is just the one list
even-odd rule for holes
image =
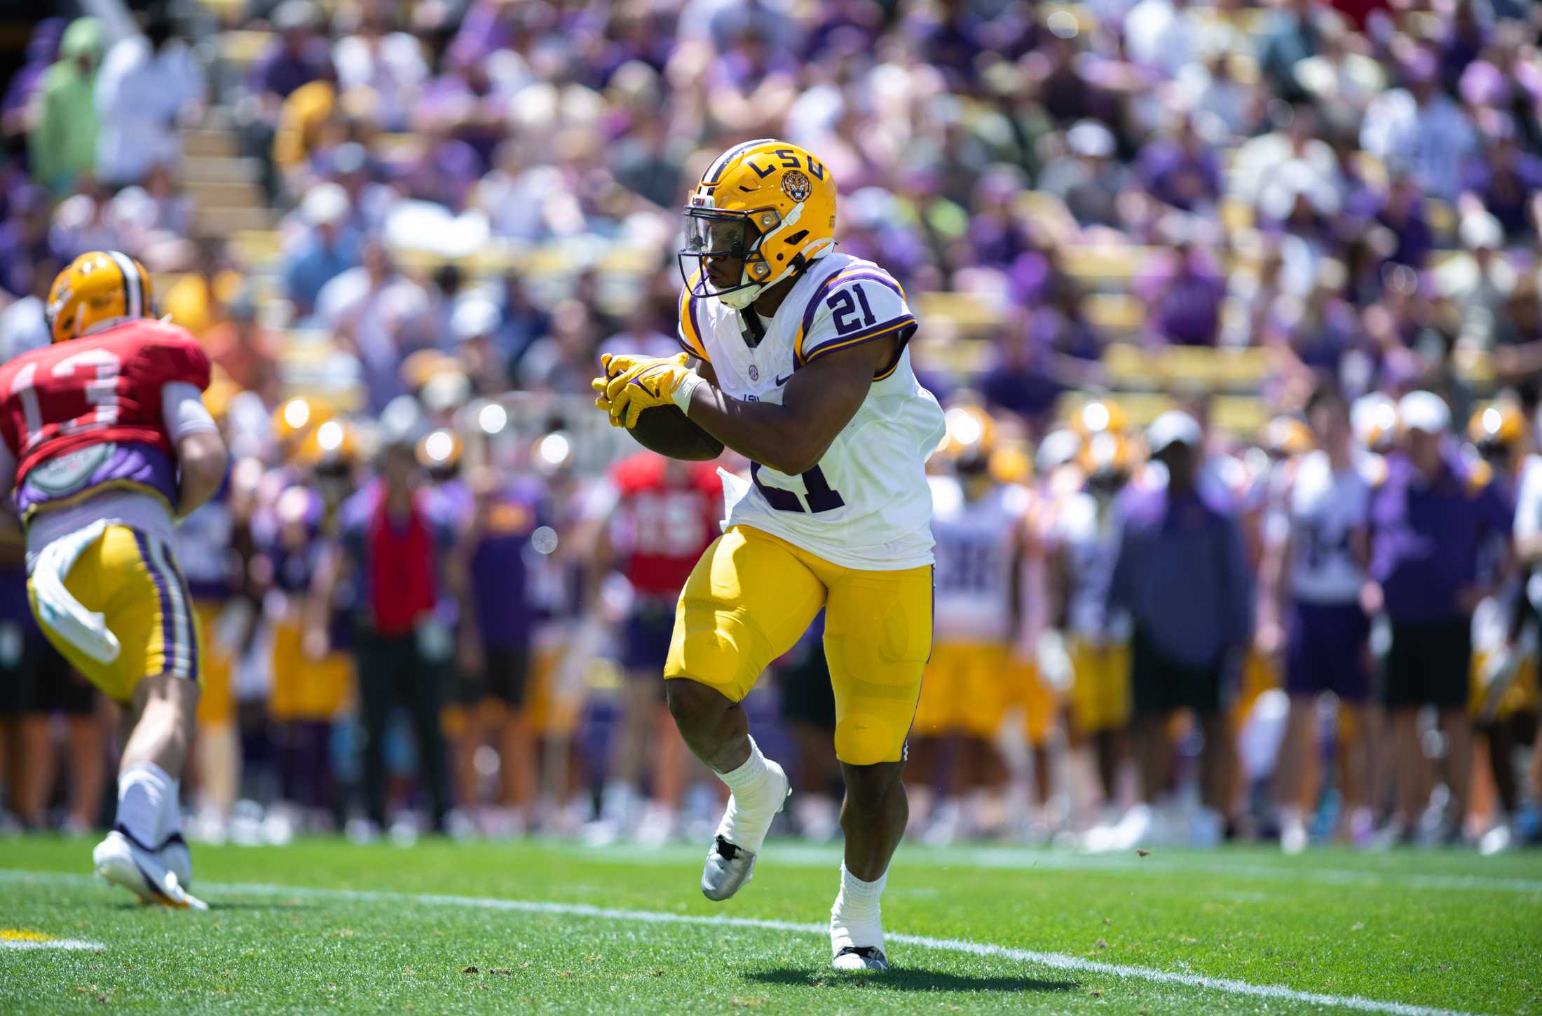
{"label": "blurred player in white jersey and dark shorts between two purple-shirted people", "polygon": [[[1280,618],[1284,689],[1291,695],[1275,796],[1280,845],[1300,853],[1308,842],[1306,796],[1315,735],[1317,698],[1332,692],[1340,703],[1342,791],[1348,833],[1371,834],[1371,618],[1362,607],[1369,553],[1371,484],[1354,452],[1349,409],[1331,389],[1306,404],[1317,450],[1308,452],[1281,492],[1283,541],[1266,550],[1264,586],[1272,594],[1266,617]],[[1280,523],[1266,523],[1275,527]],[[1268,595],[1268,594],[1266,594]],[[1263,627],[1271,627],[1266,623]]]}

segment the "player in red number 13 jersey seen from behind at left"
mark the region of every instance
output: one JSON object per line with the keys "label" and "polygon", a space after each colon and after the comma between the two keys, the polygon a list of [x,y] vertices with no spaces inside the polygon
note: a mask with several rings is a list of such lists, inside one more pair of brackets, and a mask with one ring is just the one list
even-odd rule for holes
{"label": "player in red number 13 jersey seen from behind at left", "polygon": [[117,823],[93,860],[146,902],[204,910],[177,809],[200,646],[171,543],[225,476],[208,356],[150,319],[150,276],[117,251],[60,271],[46,313],[52,345],[0,365],[0,475],[43,634],[123,706]]}

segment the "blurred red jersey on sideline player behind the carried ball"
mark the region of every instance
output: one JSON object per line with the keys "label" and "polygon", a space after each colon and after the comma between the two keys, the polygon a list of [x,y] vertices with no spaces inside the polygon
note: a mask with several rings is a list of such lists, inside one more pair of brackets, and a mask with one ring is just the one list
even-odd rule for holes
{"label": "blurred red jersey on sideline player behind the carried ball", "polygon": [[723,481],[712,463],[671,463],[640,452],[611,469],[621,498],[618,544],[641,595],[677,597],[697,558],[719,535]]}

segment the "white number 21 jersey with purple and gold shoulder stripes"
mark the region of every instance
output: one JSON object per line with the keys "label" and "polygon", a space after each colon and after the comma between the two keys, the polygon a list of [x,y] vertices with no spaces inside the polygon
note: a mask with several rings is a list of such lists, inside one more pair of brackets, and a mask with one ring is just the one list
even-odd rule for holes
{"label": "white number 21 jersey with purple and gold shoulder stripes", "polygon": [[749,345],[739,311],[689,287],[680,293],[682,345],[711,361],[736,399],[780,404],[793,372],[820,356],[890,335],[902,345],[814,469],[788,476],[756,464],[748,483],[725,473],[726,524],[754,526],[843,567],[930,564],[925,463],[942,439],[942,407],[910,368],[916,318],[904,290],[870,261],[827,254],[762,324],[765,335]]}

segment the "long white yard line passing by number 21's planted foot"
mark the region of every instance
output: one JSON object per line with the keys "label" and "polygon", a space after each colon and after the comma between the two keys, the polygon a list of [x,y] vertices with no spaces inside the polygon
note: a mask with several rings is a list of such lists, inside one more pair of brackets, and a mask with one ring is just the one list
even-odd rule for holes
{"label": "long white yard line passing by number 21's planted foot", "polygon": [[[79,885],[89,879],[86,876],[0,871],[5,882],[42,882]],[[762,920],[759,917],[728,917],[672,914],[654,910],[618,910],[611,907],[592,907],[589,903],[557,903],[547,900],[518,900],[490,896],[449,896],[441,893],[386,893],[362,890],[325,890],[291,885],[200,885],[200,891],[208,896],[278,896],[291,899],[333,899],[362,903],[412,903],[419,907],[447,907],[456,910],[497,910],[523,914],[555,914],[563,917],[588,917],[595,920],[617,920],[631,923],[672,923],[672,925],[706,925],[717,928],[756,928],[763,931],[786,931],[793,934],[830,934],[828,925],[799,923],[791,920]],[[216,903],[217,907],[217,903]],[[1300,991],[1278,984],[1252,984],[1247,981],[1232,981],[1229,977],[1206,977],[1203,974],[1175,973],[1170,970],[1153,970],[1150,967],[1126,967],[1123,964],[1106,964],[1066,953],[1039,953],[1035,950],[1019,950],[993,942],[970,942],[965,939],[934,939],[924,934],[888,934],[890,944],[914,945],[925,950],[944,953],[968,953],[973,956],[993,956],[1012,959],[1050,970],[1070,970],[1079,973],[1104,974],[1130,981],[1152,981],[1156,984],[1177,984],[1189,988],[1204,988],[1227,994],[1241,994],[1280,1002],[1301,1002],[1306,1005],[1335,1005],[1365,1013],[1392,1013],[1394,1016],[1470,1016],[1457,1010],[1434,1008],[1428,1005],[1409,1005],[1406,1002],[1382,1002],[1362,997],[1359,994],[1325,994],[1318,991]]]}

